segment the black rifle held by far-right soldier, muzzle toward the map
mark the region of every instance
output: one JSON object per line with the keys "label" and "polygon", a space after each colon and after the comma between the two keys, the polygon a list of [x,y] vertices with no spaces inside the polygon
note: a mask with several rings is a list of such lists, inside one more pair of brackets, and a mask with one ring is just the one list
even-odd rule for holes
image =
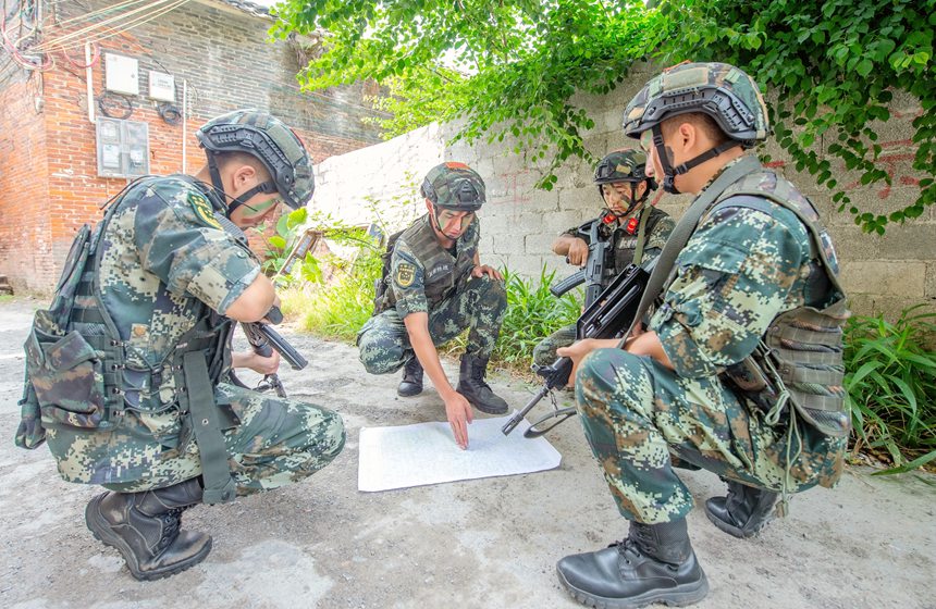
{"label": "black rifle held by far-right soldier, muzzle toward the map", "polygon": [[[586,311],[576,322],[576,339],[624,338],[624,334],[630,330],[633,323],[640,304],[640,297],[646,289],[650,272],[654,265],[655,260],[649,263],[646,268],[630,264],[615,277],[607,289],[602,291],[598,299],[586,308]],[[534,366],[534,371],[543,377],[543,387],[527,402],[522,410],[514,414],[501,428],[505,436],[509,435],[527,413],[547,395],[553,402],[554,411],[530,425],[530,428],[524,433],[525,437],[539,437],[576,413],[575,408],[559,409],[553,395],[553,389],[568,385],[572,372],[572,360],[559,358],[550,365]],[[550,419],[558,420],[547,427],[543,427],[542,424]]]}

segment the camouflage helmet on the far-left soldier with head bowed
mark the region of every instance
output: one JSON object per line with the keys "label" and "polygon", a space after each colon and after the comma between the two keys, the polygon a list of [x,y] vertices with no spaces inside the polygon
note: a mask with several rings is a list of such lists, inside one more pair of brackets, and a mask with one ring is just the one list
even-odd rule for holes
{"label": "camouflage helmet on the far-left soldier with head bowed", "polygon": [[312,160],[303,140],[275,116],[255,109],[235,110],[205,123],[196,136],[208,156],[215,188],[220,187],[220,176],[214,154],[246,152],[263,163],[273,181],[241,199],[249,199],[257,191],[279,192],[283,202],[295,210],[312,198]]}

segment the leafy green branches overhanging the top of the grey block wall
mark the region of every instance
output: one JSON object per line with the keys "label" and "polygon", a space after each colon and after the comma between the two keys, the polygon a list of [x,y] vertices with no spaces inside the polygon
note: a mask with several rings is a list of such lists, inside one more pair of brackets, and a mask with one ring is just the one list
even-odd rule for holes
{"label": "leafy green branches overhanging the top of the grey block wall", "polygon": [[[455,139],[504,141],[550,189],[567,159],[595,159],[582,134],[593,120],[574,94],[612,91],[636,62],[657,58],[734,63],[771,92],[776,138],[798,170],[834,191],[865,231],[922,215],[936,200],[936,0],[286,0],[273,34],[328,30],[325,51],[300,74],[306,87],[373,78],[398,135],[460,119]],[[915,97],[912,142],[919,198],[887,215],[847,189],[890,184],[882,122],[896,94]],[[620,100],[623,109],[627,100]],[[604,151],[600,151],[604,152]],[[842,181],[839,162],[855,172]],[[841,181],[841,182],[840,182]]]}

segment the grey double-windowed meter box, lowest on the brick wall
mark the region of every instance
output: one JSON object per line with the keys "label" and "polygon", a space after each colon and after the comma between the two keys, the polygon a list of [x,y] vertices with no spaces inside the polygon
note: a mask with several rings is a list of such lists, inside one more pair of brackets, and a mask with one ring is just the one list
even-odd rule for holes
{"label": "grey double-windowed meter box, lowest on the brick wall", "polygon": [[97,119],[98,175],[139,177],[149,174],[149,125],[139,121]]}

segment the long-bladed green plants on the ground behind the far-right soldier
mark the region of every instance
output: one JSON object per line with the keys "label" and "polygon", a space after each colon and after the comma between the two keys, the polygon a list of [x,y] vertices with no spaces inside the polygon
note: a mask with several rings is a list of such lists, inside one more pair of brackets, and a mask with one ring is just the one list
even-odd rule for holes
{"label": "long-bladed green plants on the ground behind the far-right soldier", "polygon": [[854,450],[885,453],[906,471],[936,459],[936,351],[927,333],[936,313],[923,304],[895,323],[857,316],[846,326],[845,386],[854,425]]}

